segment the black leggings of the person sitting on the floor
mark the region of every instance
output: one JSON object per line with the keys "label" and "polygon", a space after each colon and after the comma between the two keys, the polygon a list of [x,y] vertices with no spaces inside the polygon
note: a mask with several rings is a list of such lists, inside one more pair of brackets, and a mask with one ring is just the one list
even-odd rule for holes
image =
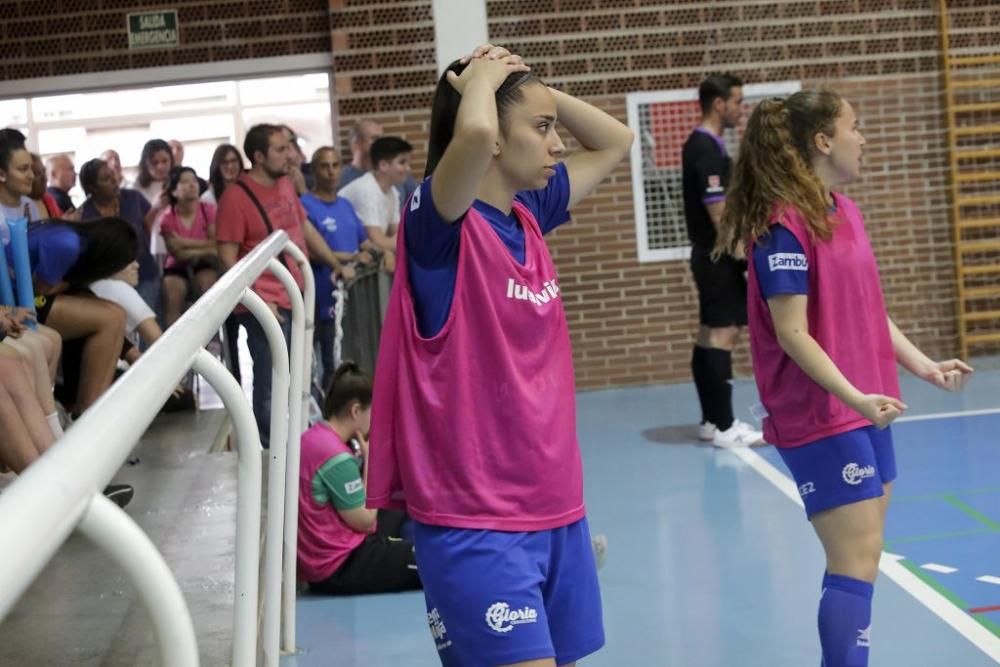
{"label": "black leggings of the person sitting on the floor", "polygon": [[327,579],[310,583],[309,591],[323,595],[365,595],[423,588],[413,542],[399,537],[406,520],[402,512],[379,511],[377,532],[355,547]]}

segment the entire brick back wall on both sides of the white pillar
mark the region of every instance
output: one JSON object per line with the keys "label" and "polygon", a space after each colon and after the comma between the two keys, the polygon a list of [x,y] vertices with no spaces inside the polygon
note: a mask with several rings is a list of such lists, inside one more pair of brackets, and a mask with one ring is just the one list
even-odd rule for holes
{"label": "entire brick back wall on both sides of the white pillar", "polygon": [[[233,58],[334,54],[341,141],[358,118],[416,146],[422,173],[436,64],[430,0],[179,0],[179,49],[129,52],[138,0],[14,0],[0,78]],[[952,2],[954,45],[1000,51],[1000,6]],[[491,40],[615,116],[625,94],[689,88],[728,70],[748,83],[830,84],[869,145],[849,194],[865,210],[889,310],[934,355],[956,347],[940,35],[935,0],[488,0]],[[995,97],[993,98],[995,99]],[[344,145],[342,143],[342,145]],[[984,165],[990,166],[990,165]],[[696,328],[684,262],[638,264],[630,172],[620,166],[551,246],[581,387],[686,380]],[[746,350],[740,367],[747,372]]]}

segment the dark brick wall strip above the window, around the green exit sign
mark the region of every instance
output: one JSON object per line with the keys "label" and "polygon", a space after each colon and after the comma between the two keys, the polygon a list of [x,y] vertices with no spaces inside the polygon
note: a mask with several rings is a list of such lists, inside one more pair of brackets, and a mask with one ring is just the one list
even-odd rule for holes
{"label": "dark brick wall strip above the window, around the green exit sign", "polygon": [[[330,52],[327,0],[4,0],[0,80]],[[176,9],[180,46],[128,48],[126,15]]]}

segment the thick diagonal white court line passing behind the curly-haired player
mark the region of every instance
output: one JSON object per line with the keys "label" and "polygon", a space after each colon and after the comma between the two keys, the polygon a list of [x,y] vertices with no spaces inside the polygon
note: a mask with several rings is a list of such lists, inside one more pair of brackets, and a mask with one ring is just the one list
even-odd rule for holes
{"label": "thick diagonal white court line passing behind the curly-haired player", "polygon": [[[997,412],[1000,412],[1000,410]],[[799,497],[799,490],[795,486],[795,482],[771,465],[760,454],[749,448],[730,449],[729,451],[753,468],[761,477],[777,487],[792,502],[799,507],[803,507],[802,498]],[[899,560],[899,556],[882,552],[878,569],[882,574],[895,581],[900,588],[930,609],[938,618],[968,639],[973,646],[1000,663],[1000,637],[997,637],[977,623],[974,618],[965,613],[964,609],[959,609],[943,595],[924,583],[919,577],[901,565]],[[997,579],[996,583],[1000,583],[1000,578]]]}

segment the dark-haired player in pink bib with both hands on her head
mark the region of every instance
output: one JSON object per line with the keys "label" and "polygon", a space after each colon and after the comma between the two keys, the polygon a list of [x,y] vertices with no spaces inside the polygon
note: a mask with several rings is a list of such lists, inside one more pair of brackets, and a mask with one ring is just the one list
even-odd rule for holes
{"label": "dark-haired player in pink bib with both hands on her head", "polygon": [[[556,120],[580,148],[563,157]],[[543,235],[632,131],[493,46],[435,91],[399,227],[369,506],[406,509],[444,665],[572,665],[604,644],[573,359]]]}

